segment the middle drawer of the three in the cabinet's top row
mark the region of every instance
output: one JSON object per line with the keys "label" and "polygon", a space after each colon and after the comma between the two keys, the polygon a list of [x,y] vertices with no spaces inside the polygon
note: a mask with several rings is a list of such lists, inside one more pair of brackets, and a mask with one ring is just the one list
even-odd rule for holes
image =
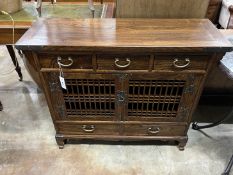
{"label": "middle drawer of the three in the cabinet's top row", "polygon": [[97,55],[99,70],[149,70],[150,55]]}

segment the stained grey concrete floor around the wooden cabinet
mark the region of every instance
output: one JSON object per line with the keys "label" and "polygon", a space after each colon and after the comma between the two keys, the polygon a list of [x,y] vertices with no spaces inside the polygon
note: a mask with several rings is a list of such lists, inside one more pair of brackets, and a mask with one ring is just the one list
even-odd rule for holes
{"label": "stained grey concrete floor around the wooden cabinet", "polygon": [[2,75],[13,66],[0,46],[0,175],[220,175],[233,153],[231,124],[205,133],[190,129],[185,151],[168,145],[83,143],[59,150],[45,97],[21,60],[20,65],[23,82],[15,72]]}

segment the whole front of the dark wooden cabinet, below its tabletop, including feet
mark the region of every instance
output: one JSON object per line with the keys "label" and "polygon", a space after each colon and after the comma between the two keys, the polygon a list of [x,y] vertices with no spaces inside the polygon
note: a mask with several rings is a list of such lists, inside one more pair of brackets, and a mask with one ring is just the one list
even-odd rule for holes
{"label": "whole front of the dark wooden cabinet, below its tabletop, including feet", "polygon": [[[188,52],[38,54],[57,140],[62,140],[59,146],[65,135],[110,140],[140,136],[173,139],[184,149],[193,103],[211,56]],[[62,70],[58,70],[60,63]],[[61,87],[60,71],[66,89]]]}

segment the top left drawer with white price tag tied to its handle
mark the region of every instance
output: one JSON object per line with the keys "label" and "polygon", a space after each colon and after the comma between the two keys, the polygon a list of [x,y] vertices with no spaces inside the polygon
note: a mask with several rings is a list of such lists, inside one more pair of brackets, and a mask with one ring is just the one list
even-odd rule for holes
{"label": "top left drawer with white price tag tied to its handle", "polygon": [[42,68],[59,68],[58,57],[63,69],[93,69],[91,55],[53,55],[40,54],[39,62]]}

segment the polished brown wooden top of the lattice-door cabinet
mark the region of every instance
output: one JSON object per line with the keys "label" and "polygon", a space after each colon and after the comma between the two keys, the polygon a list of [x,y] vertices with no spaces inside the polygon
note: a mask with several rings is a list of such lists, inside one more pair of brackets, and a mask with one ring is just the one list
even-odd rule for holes
{"label": "polished brown wooden top of the lattice-door cabinet", "polygon": [[40,19],[16,43],[22,50],[147,49],[227,51],[208,19]]}

